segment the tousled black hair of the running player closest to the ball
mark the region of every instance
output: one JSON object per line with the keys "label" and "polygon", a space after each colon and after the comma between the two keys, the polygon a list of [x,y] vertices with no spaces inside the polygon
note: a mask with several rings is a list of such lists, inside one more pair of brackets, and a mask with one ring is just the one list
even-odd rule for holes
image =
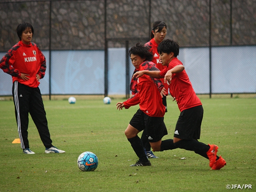
{"label": "tousled black hair of the running player closest to the ball", "polygon": [[150,48],[148,48],[144,44],[140,44],[140,42],[132,46],[128,54],[129,56],[131,56],[131,54],[134,54],[140,56],[140,58],[146,58],[146,61],[152,61],[153,59],[153,54],[152,52],[150,52]]}

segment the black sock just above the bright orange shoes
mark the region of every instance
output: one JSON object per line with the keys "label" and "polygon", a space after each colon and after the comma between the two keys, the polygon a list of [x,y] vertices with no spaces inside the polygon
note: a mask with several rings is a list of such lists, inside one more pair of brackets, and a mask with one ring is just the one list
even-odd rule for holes
{"label": "black sock just above the bright orange shoes", "polygon": [[191,140],[181,140],[176,143],[174,143],[175,146],[181,149],[194,151],[196,154],[199,154],[203,156],[204,158],[208,159],[208,156],[206,152],[210,149],[209,145],[206,145],[204,143],[201,143],[197,140],[191,139]]}

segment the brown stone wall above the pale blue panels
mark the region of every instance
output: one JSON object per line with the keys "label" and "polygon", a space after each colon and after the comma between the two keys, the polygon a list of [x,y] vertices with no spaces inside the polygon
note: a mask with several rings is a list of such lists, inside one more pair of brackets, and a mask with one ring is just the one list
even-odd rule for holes
{"label": "brown stone wall above the pale blue panels", "polygon": [[[212,45],[256,44],[256,0],[211,0]],[[180,46],[209,45],[210,0],[106,0],[107,38],[149,38],[151,26],[164,20],[166,38]],[[104,0],[51,2],[51,48],[54,50],[104,49]],[[33,42],[49,49],[50,1],[2,0],[0,2],[0,51],[18,42],[16,27],[30,22]],[[138,39],[134,40],[138,41]],[[133,43],[133,42],[132,42]],[[112,40],[110,47],[124,47],[124,40]]]}

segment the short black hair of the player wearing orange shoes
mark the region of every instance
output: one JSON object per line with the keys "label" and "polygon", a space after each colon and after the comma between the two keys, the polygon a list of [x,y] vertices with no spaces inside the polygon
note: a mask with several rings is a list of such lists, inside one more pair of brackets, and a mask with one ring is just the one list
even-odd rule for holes
{"label": "short black hair of the player wearing orange shoes", "polygon": [[165,39],[158,45],[157,51],[159,54],[161,53],[174,53],[174,57],[179,55],[180,46],[177,42],[171,39]]}

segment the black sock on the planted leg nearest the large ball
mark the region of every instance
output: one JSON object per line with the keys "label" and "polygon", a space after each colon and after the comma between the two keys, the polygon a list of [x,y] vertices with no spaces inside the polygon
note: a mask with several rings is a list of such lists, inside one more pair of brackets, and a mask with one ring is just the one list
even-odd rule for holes
{"label": "black sock on the planted leg nearest the large ball", "polygon": [[144,148],[143,148],[143,144],[141,139],[137,136],[135,136],[134,138],[130,138],[128,139],[128,141],[130,142],[134,152],[136,153],[136,155],[138,156],[139,160],[141,162],[148,162],[148,158],[145,154]]}

